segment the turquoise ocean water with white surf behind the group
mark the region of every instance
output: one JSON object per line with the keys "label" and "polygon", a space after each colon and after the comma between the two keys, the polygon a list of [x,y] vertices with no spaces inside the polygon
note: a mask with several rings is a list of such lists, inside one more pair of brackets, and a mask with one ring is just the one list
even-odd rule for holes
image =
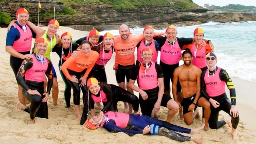
{"label": "turquoise ocean water with white surf behind the group", "polygon": [[[256,82],[256,21],[242,23],[209,22],[196,26],[177,27],[177,37],[192,38],[195,28],[205,31],[205,39],[214,44],[218,57],[217,66],[225,69],[230,77]],[[144,28],[132,29],[133,34],[141,34]],[[155,30],[165,32],[165,30]],[[101,31],[118,35],[118,30]],[[160,57],[158,57],[160,58]],[[183,61],[180,61],[183,64]]]}

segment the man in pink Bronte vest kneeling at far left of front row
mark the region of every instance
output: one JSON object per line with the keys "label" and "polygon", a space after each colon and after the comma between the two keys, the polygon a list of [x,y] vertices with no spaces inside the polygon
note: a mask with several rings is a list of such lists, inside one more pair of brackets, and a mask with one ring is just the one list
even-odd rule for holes
{"label": "man in pink Bronte vest kneeling at far left of front row", "polygon": [[[37,117],[48,118],[47,100],[50,95],[51,86],[53,85],[51,61],[44,56],[48,48],[47,40],[39,38],[36,42],[36,48],[37,52],[32,54],[32,58],[23,61],[16,77],[17,82],[23,88],[23,96],[31,102],[30,121],[28,121],[28,124],[35,123],[36,114]],[[46,93],[43,88],[45,73],[47,73],[47,77],[49,78]],[[16,107],[22,110],[26,108],[21,103],[18,103]]]}

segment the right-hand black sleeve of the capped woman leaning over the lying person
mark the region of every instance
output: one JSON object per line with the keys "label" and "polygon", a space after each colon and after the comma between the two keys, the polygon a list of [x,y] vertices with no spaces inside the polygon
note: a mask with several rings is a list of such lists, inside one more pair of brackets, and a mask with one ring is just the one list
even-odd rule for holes
{"label": "right-hand black sleeve of the capped woman leaning over the lying person", "polygon": [[102,111],[103,113],[106,113],[108,111],[108,109],[110,108],[111,104],[112,104],[113,93],[112,93],[111,87],[107,83],[104,83],[104,86],[103,86],[102,90],[106,94],[107,102],[105,102],[105,105],[104,105],[103,109],[100,110],[100,111]]}

